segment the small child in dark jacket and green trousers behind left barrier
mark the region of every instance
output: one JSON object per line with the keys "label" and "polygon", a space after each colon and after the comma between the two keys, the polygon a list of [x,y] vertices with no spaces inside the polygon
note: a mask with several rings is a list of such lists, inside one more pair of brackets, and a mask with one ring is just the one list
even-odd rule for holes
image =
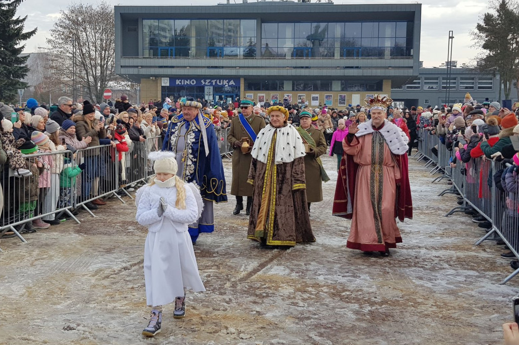
{"label": "small child in dark jacket and green trousers behind left barrier", "polygon": [[[31,140],[27,140],[20,146],[20,151],[22,154],[32,154],[38,151],[38,147]],[[20,182],[16,186],[20,205],[18,208],[18,217],[20,220],[34,217],[39,194],[39,174],[44,172],[43,163],[37,160],[36,157],[25,157],[24,161],[25,169],[31,170],[32,175],[20,178],[18,180]],[[25,227],[25,230],[22,232],[36,232],[31,222],[25,223],[22,226]]]}

